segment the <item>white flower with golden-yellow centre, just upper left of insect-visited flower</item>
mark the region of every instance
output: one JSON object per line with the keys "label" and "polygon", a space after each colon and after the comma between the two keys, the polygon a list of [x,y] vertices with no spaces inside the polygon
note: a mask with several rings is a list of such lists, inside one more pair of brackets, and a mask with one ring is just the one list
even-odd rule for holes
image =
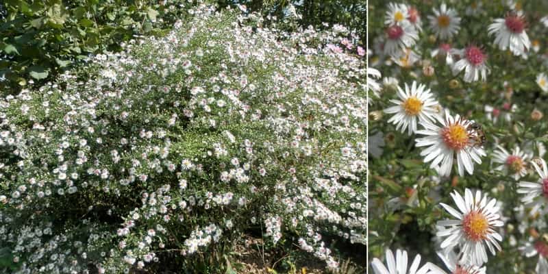
{"label": "white flower with golden-yellow centre, just upper left of insect-visited flower", "polygon": [[419,123],[432,123],[440,119],[436,108],[439,103],[424,84],[417,86],[416,81],[413,81],[411,87],[405,85],[405,90],[398,86],[397,96],[397,100],[390,99],[395,105],[384,110],[385,113],[394,114],[388,123],[396,125],[396,130],[403,133],[407,129],[411,135],[417,130],[417,120]]}

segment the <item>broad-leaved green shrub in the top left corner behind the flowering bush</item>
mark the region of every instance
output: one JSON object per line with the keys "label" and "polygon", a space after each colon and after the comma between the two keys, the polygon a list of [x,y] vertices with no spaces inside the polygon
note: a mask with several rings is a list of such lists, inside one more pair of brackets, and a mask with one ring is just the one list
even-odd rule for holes
{"label": "broad-leaved green shrub in the top left corner behind the flowering bush", "polygon": [[[184,0],[8,0],[0,10],[0,89],[43,84],[90,53],[117,51],[138,34],[161,35],[192,3]],[[2,5],[0,3],[0,5]],[[31,82],[31,83],[32,83]]]}

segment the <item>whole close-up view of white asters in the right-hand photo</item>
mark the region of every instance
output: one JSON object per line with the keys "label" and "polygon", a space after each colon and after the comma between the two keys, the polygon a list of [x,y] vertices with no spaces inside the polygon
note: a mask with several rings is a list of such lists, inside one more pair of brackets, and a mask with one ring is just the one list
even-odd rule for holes
{"label": "whole close-up view of white asters in the right-hand photo", "polygon": [[548,273],[547,3],[368,8],[371,270]]}

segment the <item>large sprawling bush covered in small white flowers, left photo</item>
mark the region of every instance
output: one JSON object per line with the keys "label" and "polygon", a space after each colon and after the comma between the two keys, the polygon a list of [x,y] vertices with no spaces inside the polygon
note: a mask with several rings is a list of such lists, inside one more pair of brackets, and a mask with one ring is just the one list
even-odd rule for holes
{"label": "large sprawling bush covered in small white flowers, left photo", "polygon": [[364,50],[241,10],[199,5],[1,100],[3,266],[196,273],[246,229],[328,269],[334,240],[364,247]]}

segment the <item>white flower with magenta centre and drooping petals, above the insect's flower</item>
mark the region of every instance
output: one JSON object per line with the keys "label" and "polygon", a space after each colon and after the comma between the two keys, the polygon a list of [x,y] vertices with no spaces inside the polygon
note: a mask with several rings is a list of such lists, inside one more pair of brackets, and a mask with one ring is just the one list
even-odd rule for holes
{"label": "white flower with magenta centre and drooping petals, above the insect's flower", "polygon": [[487,66],[487,54],[482,49],[471,45],[466,49],[452,49],[451,54],[462,57],[453,64],[453,75],[457,75],[464,70],[464,82],[478,81],[480,76],[483,81],[487,79],[490,69]]}

